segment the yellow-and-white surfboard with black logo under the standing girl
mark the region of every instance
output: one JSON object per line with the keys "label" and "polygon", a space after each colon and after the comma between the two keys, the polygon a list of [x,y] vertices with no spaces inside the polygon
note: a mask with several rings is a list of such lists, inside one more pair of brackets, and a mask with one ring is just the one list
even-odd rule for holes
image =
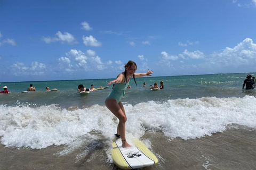
{"label": "yellow-and-white surfboard with black logo under the standing girl", "polygon": [[122,169],[134,169],[155,165],[158,163],[156,156],[139,140],[132,140],[131,148],[122,148],[122,140],[113,140],[112,154],[114,164]]}

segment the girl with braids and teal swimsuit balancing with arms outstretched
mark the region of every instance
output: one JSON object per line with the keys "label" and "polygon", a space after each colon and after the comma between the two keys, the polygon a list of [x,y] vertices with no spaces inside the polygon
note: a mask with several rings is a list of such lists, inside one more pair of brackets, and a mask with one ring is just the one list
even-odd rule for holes
{"label": "girl with braids and teal swimsuit balancing with arms outstretched", "polygon": [[[133,77],[135,81],[135,77],[140,78],[146,75],[151,76],[151,74],[154,72],[152,70],[148,70],[146,73],[135,73],[137,70],[137,65],[131,60],[124,66],[124,69],[125,71],[118,74],[115,80],[107,82],[108,86],[112,83],[115,83],[116,85],[106,98],[105,104],[107,108],[119,119],[117,133],[115,134],[116,139],[121,137],[122,147],[131,147],[125,138],[125,122],[127,117],[125,114],[124,106],[121,102],[121,97],[124,96],[125,89],[128,87],[131,77]],[[135,84],[137,86],[136,81]]]}

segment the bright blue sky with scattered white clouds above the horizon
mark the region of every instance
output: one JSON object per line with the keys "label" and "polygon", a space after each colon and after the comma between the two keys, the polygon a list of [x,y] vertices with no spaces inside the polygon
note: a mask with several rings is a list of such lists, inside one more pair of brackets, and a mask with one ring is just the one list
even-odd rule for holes
{"label": "bright blue sky with scattered white clouds above the horizon", "polygon": [[0,82],[250,73],[256,0],[0,0]]}

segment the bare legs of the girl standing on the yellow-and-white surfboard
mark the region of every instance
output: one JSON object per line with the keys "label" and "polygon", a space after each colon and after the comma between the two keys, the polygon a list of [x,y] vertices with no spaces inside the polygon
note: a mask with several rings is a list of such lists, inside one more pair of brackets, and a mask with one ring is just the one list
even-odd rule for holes
{"label": "bare legs of the girl standing on the yellow-and-white surfboard", "polygon": [[[125,138],[125,122],[126,122],[125,113],[123,112],[120,105],[117,104],[116,99],[114,98],[108,98],[105,104],[107,108],[119,119],[117,132],[119,132],[121,135],[121,139],[123,141],[122,147],[130,147],[130,145],[126,142],[126,138]],[[123,107],[122,103],[121,103],[121,106]]]}

